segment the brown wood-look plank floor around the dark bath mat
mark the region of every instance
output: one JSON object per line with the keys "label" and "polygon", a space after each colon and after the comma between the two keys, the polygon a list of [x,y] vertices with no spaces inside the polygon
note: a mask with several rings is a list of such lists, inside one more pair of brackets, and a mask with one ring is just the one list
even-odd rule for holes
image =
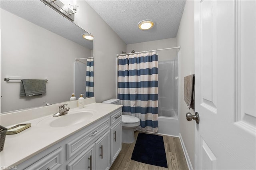
{"label": "brown wood-look plank floor around the dark bath mat", "polygon": [[[135,131],[137,139],[138,131]],[[136,142],[131,144],[122,143],[122,150],[110,170],[188,170],[180,139],[178,137],[163,136],[168,168],[144,164],[131,160]]]}

